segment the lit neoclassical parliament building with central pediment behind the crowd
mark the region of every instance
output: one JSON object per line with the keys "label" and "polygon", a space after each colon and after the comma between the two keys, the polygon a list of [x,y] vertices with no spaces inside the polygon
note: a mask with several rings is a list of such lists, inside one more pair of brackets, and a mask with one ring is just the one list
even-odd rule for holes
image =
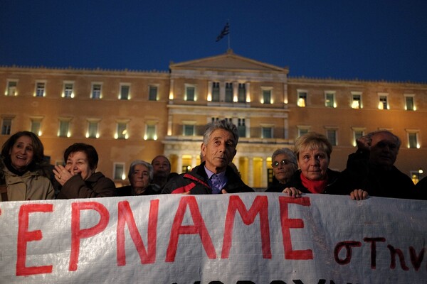
{"label": "lit neoclassical parliament building with central pediment behind the crowd", "polygon": [[396,166],[416,182],[427,170],[427,84],[292,77],[288,67],[228,50],[171,62],[169,70],[0,67],[3,144],[16,131],[37,133],[52,164],[75,142],[97,149],[97,170],[127,184],[132,160],[166,155],[172,171],[200,163],[206,123],[233,121],[233,160],[246,184],[271,179],[271,154],[316,131],[334,146],[330,168],[344,170],[355,140],[388,129],[401,138]]}

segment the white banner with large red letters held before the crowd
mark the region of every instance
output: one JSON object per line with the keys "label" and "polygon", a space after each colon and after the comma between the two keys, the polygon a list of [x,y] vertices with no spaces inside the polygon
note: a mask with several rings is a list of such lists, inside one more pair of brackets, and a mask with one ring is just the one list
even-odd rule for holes
{"label": "white banner with large red letters held before the crowd", "polygon": [[0,210],[0,283],[427,283],[425,201],[245,193]]}

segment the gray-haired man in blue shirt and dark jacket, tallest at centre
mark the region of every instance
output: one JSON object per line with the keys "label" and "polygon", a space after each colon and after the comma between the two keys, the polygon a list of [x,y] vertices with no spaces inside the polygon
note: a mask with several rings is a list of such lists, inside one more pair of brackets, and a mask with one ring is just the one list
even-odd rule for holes
{"label": "gray-haired man in blue shirt and dark jacket, tallest at centre", "polygon": [[191,172],[170,180],[162,193],[191,195],[253,192],[229,166],[236,155],[238,131],[230,121],[214,121],[206,125],[201,156],[204,161]]}

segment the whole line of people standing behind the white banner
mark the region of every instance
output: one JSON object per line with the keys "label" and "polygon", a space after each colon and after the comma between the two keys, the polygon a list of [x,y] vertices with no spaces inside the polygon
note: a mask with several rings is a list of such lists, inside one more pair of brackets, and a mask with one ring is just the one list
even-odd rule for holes
{"label": "whole line of people standing behind the white banner", "polygon": [[[130,185],[115,187],[110,178],[96,171],[97,151],[74,143],[64,152],[65,165],[46,163],[43,144],[29,131],[12,135],[0,156],[0,201],[50,200],[158,194],[226,194],[254,192],[243,182],[232,160],[238,130],[229,121],[206,125],[201,143],[201,164],[189,173],[171,173],[171,163],[157,155],[152,163],[135,160],[127,175]],[[297,138],[295,146],[279,148],[271,156],[274,181],[266,192],[290,197],[305,194],[349,195],[353,200],[369,196],[427,200],[427,178],[413,184],[394,165],[401,140],[381,130],[357,139],[347,168],[329,168],[332,145],[315,132]]]}

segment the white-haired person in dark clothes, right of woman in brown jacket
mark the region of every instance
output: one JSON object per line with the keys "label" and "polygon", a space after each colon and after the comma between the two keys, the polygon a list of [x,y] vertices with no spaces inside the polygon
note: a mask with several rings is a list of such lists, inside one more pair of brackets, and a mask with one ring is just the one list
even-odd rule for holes
{"label": "white-haired person in dark clothes, right of woman in brown jacket", "polygon": [[153,166],[144,160],[134,160],[130,164],[129,178],[130,185],[117,188],[117,196],[131,195],[158,195],[160,192],[152,185]]}

